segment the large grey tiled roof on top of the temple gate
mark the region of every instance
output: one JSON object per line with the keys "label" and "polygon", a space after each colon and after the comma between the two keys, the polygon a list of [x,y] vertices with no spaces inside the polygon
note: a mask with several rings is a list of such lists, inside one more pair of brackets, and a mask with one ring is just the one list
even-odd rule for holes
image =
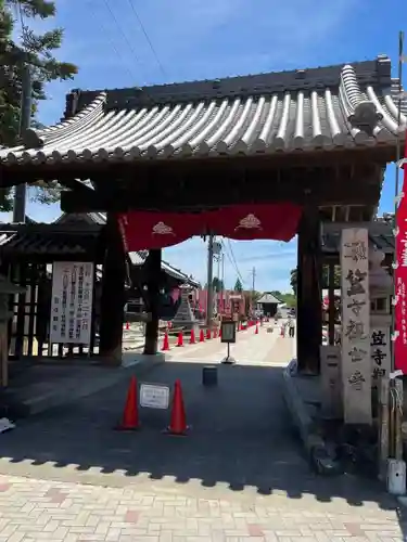
{"label": "large grey tiled roof on top of the temple gate", "polygon": [[391,79],[390,60],[382,55],[280,74],[77,91],[80,112],[56,126],[28,130],[23,145],[0,150],[0,164],[131,162],[394,144],[397,85]]}

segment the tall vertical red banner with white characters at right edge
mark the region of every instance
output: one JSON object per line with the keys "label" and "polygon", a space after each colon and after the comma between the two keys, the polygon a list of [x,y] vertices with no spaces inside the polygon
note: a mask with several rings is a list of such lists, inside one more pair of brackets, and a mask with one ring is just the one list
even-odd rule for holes
{"label": "tall vertical red banner with white characters at right edge", "polygon": [[[404,157],[407,158],[407,138]],[[398,166],[396,166],[398,167]],[[395,369],[407,374],[407,166],[404,166],[403,193],[397,209],[396,255],[397,269],[394,271],[396,287],[395,328],[398,335],[394,343]]]}

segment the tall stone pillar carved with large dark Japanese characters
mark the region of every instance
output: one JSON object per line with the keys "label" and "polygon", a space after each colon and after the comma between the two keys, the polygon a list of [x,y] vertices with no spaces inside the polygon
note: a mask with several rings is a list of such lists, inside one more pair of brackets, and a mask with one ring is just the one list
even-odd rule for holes
{"label": "tall stone pillar carved with large dark Japanese characters", "polygon": [[342,383],[346,424],[371,424],[369,241],[367,229],[342,230]]}

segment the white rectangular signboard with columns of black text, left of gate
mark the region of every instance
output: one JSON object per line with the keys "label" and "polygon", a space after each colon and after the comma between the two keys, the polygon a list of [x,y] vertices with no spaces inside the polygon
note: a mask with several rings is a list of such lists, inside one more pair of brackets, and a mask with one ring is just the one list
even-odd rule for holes
{"label": "white rectangular signboard with columns of black text, left of gate", "polygon": [[50,341],[89,345],[93,263],[55,261],[52,267]]}

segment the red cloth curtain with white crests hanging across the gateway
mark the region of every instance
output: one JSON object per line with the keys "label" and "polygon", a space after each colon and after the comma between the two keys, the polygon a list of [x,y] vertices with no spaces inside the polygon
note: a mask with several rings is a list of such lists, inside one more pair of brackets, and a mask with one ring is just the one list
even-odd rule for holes
{"label": "red cloth curtain with white crests hanging across the gateway", "polygon": [[232,240],[290,241],[302,208],[290,203],[234,205],[202,212],[133,211],[119,216],[129,251],[164,248],[213,232]]}

